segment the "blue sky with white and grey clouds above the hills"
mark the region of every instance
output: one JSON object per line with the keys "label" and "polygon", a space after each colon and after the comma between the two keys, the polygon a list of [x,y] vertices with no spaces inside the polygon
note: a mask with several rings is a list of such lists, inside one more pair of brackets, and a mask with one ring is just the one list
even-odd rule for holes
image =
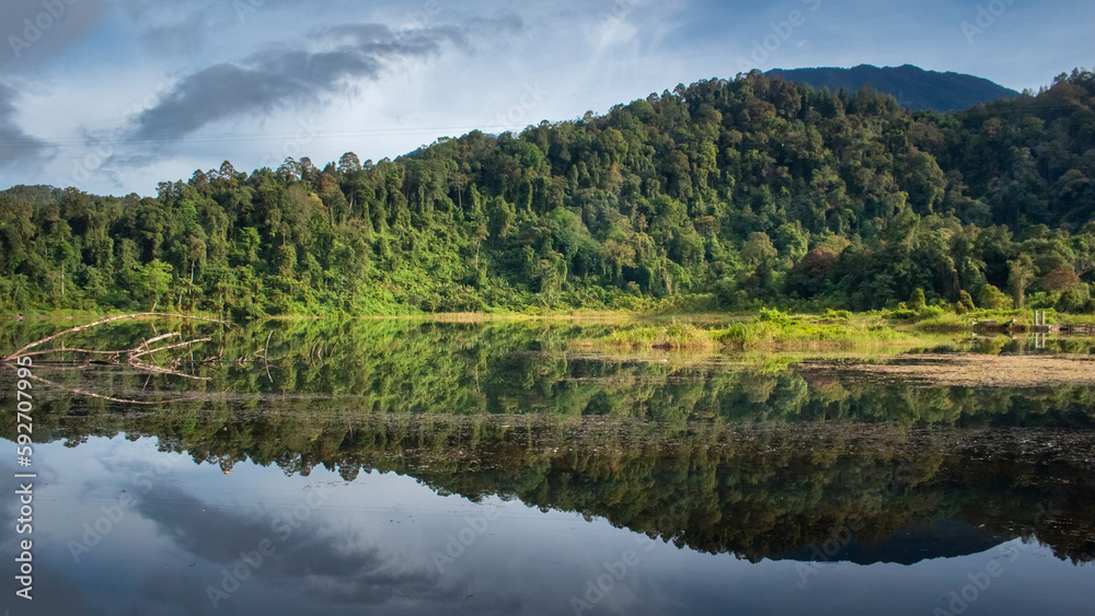
{"label": "blue sky with white and grey clouds above the hills", "polygon": [[1095,66],[1092,23],[1088,0],[5,0],[0,187],[376,161],[754,68],[1037,90]]}

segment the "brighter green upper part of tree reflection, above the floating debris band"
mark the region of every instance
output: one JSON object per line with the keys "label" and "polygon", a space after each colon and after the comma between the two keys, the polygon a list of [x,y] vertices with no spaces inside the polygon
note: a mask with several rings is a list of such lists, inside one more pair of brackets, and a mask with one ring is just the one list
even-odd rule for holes
{"label": "brighter green upper part of tree reflection, above the floating debris band", "polygon": [[[3,324],[0,344],[41,337],[56,326],[21,327],[26,329]],[[122,324],[69,346],[125,348],[150,335],[149,327]],[[578,348],[576,341],[603,336],[607,325],[370,319],[255,323],[231,330],[208,324],[176,327],[187,338],[214,338],[183,349],[177,367],[209,381],[149,380],[137,371],[71,365],[47,367],[43,375],[48,372],[74,388],[141,399],[172,399],[181,391],[198,394],[199,399],[172,408],[205,412],[246,407],[263,396],[323,396],[351,398],[326,400],[325,406],[372,412],[1091,427],[1095,408],[1095,391],[1079,385],[924,388],[843,374],[832,365],[798,369],[780,356],[596,356]],[[256,351],[266,351],[269,361]],[[192,357],[220,361],[191,364]],[[105,400],[81,404],[96,411],[108,408]]]}

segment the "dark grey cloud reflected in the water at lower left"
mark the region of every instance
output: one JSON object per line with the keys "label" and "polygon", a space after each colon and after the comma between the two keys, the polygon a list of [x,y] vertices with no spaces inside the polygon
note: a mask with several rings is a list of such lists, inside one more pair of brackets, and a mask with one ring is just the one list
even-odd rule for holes
{"label": "dark grey cloud reflected in the water at lower left", "polygon": [[[301,491],[303,503],[309,491]],[[450,604],[466,594],[464,583],[442,583],[440,576],[425,563],[408,565],[404,559],[385,554],[378,547],[361,545],[356,533],[332,532],[318,520],[312,511],[296,528],[284,523],[289,513],[265,512],[253,515],[246,512],[215,509],[193,496],[170,486],[158,486],[138,498],[135,510],[154,522],[161,534],[196,557],[217,563],[216,577],[208,574],[197,580],[188,576],[185,583],[178,579],[145,581],[147,593],[155,592],[162,598],[171,597],[194,602],[186,593],[197,592],[196,611],[208,611],[206,586],[220,585],[221,568],[231,569],[240,561],[241,551],[254,551],[264,541],[269,541],[275,553],[264,557],[253,573],[241,582],[240,596],[226,600],[221,607],[232,613],[241,604],[254,607],[253,592],[247,586],[273,585],[296,591],[301,600],[310,597],[330,604],[383,605],[389,602],[414,602],[420,608],[426,604]],[[204,510],[204,511],[203,511]],[[291,528],[291,533],[287,532]],[[166,590],[174,589],[174,590]],[[185,592],[182,592],[186,589]],[[243,594],[246,593],[246,598]],[[147,595],[149,596],[149,595]],[[512,603],[512,602],[510,602]],[[482,608],[482,606],[480,606]],[[520,608],[512,603],[509,608]],[[284,609],[281,606],[280,609]],[[223,611],[223,609],[221,609]]]}

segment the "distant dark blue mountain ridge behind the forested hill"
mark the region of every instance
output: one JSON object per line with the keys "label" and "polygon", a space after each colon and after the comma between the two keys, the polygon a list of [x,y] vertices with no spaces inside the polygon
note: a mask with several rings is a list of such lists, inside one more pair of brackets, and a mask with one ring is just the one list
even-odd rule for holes
{"label": "distant dark blue mountain ridge behind the forested hill", "polygon": [[832,92],[841,89],[857,92],[864,84],[869,84],[878,92],[892,95],[901,106],[913,111],[960,112],[980,103],[1019,95],[1018,92],[988,79],[956,72],[925,71],[912,65],[885,68],[860,65],[851,69],[773,69],[764,74],[769,79],[782,78],[808,83],[819,90],[828,88]]}

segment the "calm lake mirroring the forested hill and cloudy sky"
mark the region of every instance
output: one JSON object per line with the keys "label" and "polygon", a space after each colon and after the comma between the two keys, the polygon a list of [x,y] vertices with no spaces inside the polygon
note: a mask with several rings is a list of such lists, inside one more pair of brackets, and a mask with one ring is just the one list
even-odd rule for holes
{"label": "calm lake mirroring the forested hill and cloudy sky", "polygon": [[[3,322],[0,350],[71,325]],[[0,368],[0,605],[1091,612],[1091,340],[955,335],[896,359],[589,342],[616,327],[123,322],[62,338],[182,346],[34,357],[26,466],[21,375]],[[1000,379],[1026,361],[1047,376]],[[15,595],[27,565],[33,601]]]}

